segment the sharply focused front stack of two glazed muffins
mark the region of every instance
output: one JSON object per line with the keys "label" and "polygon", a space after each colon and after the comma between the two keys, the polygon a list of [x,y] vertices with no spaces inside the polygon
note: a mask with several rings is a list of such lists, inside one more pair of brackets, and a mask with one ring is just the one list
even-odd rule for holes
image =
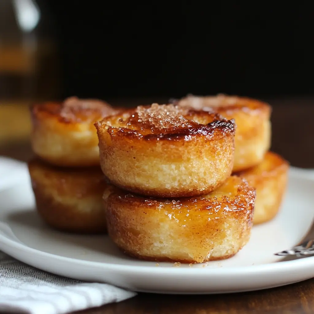
{"label": "sharply focused front stack of two glazed muffins", "polygon": [[234,164],[235,124],[214,111],[139,106],[95,124],[112,186],[108,233],[144,260],[202,263],[249,240],[255,189]]}

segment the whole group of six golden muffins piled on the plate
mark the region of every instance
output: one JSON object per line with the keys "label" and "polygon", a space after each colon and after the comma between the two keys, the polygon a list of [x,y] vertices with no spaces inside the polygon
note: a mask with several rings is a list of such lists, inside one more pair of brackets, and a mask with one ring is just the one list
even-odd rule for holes
{"label": "whole group of six golden muffins piled on the plate", "polygon": [[270,113],[224,95],[116,111],[77,98],[34,105],[37,210],[57,229],[108,231],[139,259],[229,258],[285,190],[288,164],[268,152]]}

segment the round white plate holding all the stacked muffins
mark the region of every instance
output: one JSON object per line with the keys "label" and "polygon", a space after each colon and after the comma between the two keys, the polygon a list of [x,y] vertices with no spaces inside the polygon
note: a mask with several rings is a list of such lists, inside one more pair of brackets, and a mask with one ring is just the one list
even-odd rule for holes
{"label": "round white plate holding all the stacked muffins", "polygon": [[259,290],[314,277],[314,257],[280,262],[275,252],[295,245],[311,226],[314,180],[291,169],[279,215],[253,227],[249,243],[225,261],[198,265],[138,261],[107,236],[75,236],[47,228],[36,215],[29,179],[0,192],[0,249],[51,273],[126,289],[209,294]]}

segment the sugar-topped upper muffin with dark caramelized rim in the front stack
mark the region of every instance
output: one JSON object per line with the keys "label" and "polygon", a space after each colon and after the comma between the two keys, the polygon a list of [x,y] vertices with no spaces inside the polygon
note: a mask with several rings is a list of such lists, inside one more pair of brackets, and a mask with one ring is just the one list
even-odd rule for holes
{"label": "sugar-topped upper muffin with dark caramelized rim in the front stack", "polygon": [[[204,124],[192,120],[197,116]],[[102,171],[128,191],[156,197],[200,195],[231,174],[235,126],[217,114],[153,104],[95,126]]]}

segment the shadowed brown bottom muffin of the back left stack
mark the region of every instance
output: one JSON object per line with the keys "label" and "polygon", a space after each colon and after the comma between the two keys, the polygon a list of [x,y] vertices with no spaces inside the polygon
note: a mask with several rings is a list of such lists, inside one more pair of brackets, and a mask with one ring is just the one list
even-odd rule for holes
{"label": "shadowed brown bottom muffin of the back left stack", "polygon": [[106,232],[102,195],[107,185],[99,166],[56,168],[32,160],[28,167],[37,211],[48,225],[76,233]]}

